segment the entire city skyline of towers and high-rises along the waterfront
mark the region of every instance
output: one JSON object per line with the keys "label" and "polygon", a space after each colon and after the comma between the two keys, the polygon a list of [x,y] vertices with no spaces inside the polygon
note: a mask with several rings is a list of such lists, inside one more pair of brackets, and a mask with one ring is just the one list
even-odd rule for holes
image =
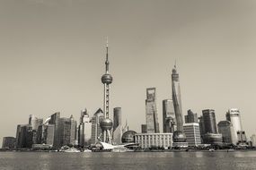
{"label": "entire city skyline of towers and high-rises along the waterfront", "polygon": [[[121,143],[135,143],[140,148],[181,148],[199,147],[203,144],[232,144],[248,146],[242,128],[238,109],[229,109],[226,120],[216,124],[213,109],[202,110],[198,117],[188,110],[183,117],[181,109],[181,88],[176,64],[172,69],[172,99],[163,100],[163,132],[156,108],[156,89],[146,89],[146,123],[141,125],[141,132],[128,131],[121,123],[121,108],[113,109],[113,121],[110,119],[110,83],[113,78],[109,72],[108,46],[106,47],[105,73],[102,75],[104,86],[103,110],[99,108],[92,117],[87,110],[81,111],[77,123],[71,115],[60,117],[57,112],[45,121],[30,115],[29,123],[17,125],[16,137],[4,137],[3,149],[60,149],[63,146],[80,148],[96,145],[113,146]],[[183,122],[185,121],[185,123]],[[256,135],[251,137],[251,145],[256,146]],[[108,144],[108,145],[106,145]]]}

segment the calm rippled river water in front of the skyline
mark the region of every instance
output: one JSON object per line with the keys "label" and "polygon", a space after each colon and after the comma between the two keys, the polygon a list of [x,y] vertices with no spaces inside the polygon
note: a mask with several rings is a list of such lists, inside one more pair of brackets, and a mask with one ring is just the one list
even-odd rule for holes
{"label": "calm rippled river water in front of the skyline", "polygon": [[256,151],[39,153],[0,152],[1,170],[256,169]]}

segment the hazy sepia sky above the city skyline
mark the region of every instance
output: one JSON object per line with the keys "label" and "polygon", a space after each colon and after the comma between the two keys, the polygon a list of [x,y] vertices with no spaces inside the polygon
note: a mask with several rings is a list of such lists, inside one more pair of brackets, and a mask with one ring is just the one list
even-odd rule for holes
{"label": "hazy sepia sky above the city skyline", "polygon": [[1,0],[0,143],[29,115],[47,118],[102,107],[105,39],[110,42],[110,110],[140,132],[146,88],[172,98],[175,59],[183,115],[230,107],[256,132],[256,1],[254,0]]}

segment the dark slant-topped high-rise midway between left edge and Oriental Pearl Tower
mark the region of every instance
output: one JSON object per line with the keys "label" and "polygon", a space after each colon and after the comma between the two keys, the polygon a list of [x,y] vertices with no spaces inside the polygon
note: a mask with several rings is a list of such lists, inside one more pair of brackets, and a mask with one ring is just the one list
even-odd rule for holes
{"label": "dark slant-topped high-rise midway between left edge and Oriental Pearl Tower", "polygon": [[57,112],[53,115],[50,115],[50,118],[49,118],[49,124],[54,124],[54,142],[53,142],[53,148],[55,149],[60,149],[61,147],[61,144],[60,144],[60,137],[59,137],[59,119],[60,119],[60,113]]}

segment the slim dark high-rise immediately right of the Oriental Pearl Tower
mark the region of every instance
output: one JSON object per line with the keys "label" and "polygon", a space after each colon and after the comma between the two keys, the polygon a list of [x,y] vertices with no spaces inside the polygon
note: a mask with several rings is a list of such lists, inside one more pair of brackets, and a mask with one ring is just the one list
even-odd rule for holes
{"label": "slim dark high-rise immediately right of the Oriental Pearl Tower", "polygon": [[122,115],[121,107],[114,108],[113,143],[120,144],[122,138]]}

